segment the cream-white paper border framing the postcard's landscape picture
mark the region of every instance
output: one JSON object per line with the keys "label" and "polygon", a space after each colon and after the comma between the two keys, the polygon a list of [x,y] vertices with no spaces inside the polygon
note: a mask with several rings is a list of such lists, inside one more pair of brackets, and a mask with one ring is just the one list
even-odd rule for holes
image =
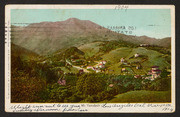
{"label": "cream-white paper border framing the postcard's landscape picture", "polygon": [[[123,4],[118,4],[123,5]],[[128,107],[127,103],[108,103],[107,106],[113,106],[118,104],[123,106],[123,108],[103,108],[103,103],[94,103],[94,105],[99,105],[99,107],[88,107],[87,105],[92,103],[11,103],[10,95],[11,95],[11,37],[10,37],[10,24],[11,24],[11,16],[10,11],[11,9],[115,9],[118,5],[6,5],[5,6],[5,26],[7,26],[6,36],[5,36],[5,111],[6,112],[18,112],[14,110],[14,107],[18,108],[25,108],[26,106],[30,105],[33,106],[54,106],[52,108],[56,108],[59,110],[24,110],[21,112],[63,112],[63,105],[79,105],[81,109],[87,109],[88,111],[68,111],[68,112],[77,112],[77,113],[172,113],[175,112],[175,6],[174,5],[127,5],[128,9],[170,9],[171,10],[171,103],[145,103],[145,107],[137,107],[137,105],[142,105],[142,103],[130,103],[132,107]],[[83,106],[85,105],[85,107]],[[148,104],[153,104],[154,107],[148,107]],[[170,106],[167,106],[167,105]],[[127,107],[125,107],[125,105]],[[136,105],[136,107],[135,107]],[[158,107],[155,107],[159,105]],[[61,106],[61,107],[59,107]],[[163,110],[164,108],[167,108]],[[67,112],[67,111],[66,111]]]}

